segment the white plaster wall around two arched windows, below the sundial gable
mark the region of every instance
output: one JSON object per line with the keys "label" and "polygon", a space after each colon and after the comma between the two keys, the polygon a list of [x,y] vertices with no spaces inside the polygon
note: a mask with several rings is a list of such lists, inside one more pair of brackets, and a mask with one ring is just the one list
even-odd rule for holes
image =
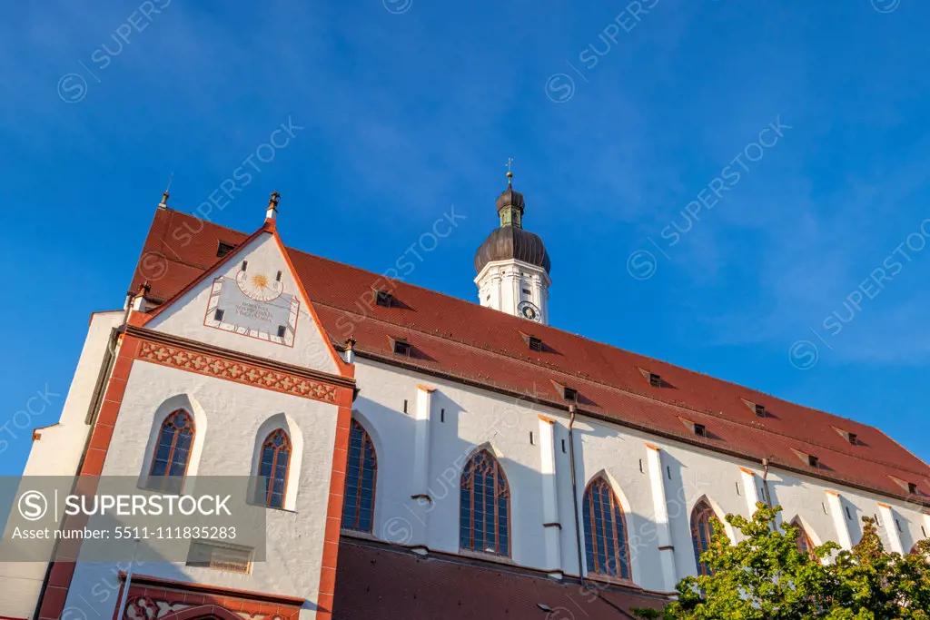
{"label": "white plaster wall around two arched windows, below the sundial gable", "polygon": [[[265,423],[272,416],[286,416],[292,442],[302,441],[307,449],[301,459],[296,459],[302,462],[294,464],[299,466],[298,484],[288,486],[288,497],[293,501],[287,503],[294,508],[266,509],[267,560],[256,561],[252,574],[188,567],[183,562],[146,562],[140,573],[316,600],[338,407],[136,361],[104,463],[104,476],[136,476],[147,470],[146,458],[151,451],[146,446],[153,432],[153,417],[164,416],[164,403],[171,401],[173,406],[179,395],[206,416],[206,428],[202,421],[197,428],[203,445],[193,450],[196,463],[191,464],[200,477],[249,476],[255,438],[265,432]],[[302,437],[295,437],[298,431]],[[246,496],[240,501],[245,503]],[[131,547],[132,543],[127,542],[126,558],[131,555]],[[67,606],[85,609],[85,601],[91,601],[100,607],[103,616],[112,614],[115,596],[110,588],[101,587],[101,580],[112,575],[113,570],[118,570],[114,564],[78,564]],[[307,607],[301,618],[314,616],[312,605]]]}

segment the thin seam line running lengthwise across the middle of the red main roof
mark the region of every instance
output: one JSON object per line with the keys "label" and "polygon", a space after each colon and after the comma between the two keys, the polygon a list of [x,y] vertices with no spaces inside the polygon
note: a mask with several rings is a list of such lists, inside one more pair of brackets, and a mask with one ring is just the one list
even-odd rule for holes
{"label": "thin seam line running lengthwise across the middle of the red main roof", "polygon": [[[312,256],[312,255],[311,255],[311,256]],[[341,307],[339,307],[339,306],[334,306],[334,305],[332,305],[331,303],[326,303],[326,302],[323,302],[323,301],[313,301],[312,299],[311,299],[311,301],[312,301],[313,304],[319,304],[319,305],[321,305],[321,306],[325,306],[326,308],[330,308],[330,309],[333,309],[333,310],[343,311],[343,312],[352,314],[354,317],[359,317],[359,318],[362,317],[361,314],[354,313],[354,312],[352,312],[352,310],[347,310],[347,309],[341,308]],[[467,302],[466,302],[466,303],[467,303]],[[497,311],[497,310],[493,310],[493,311]],[[376,321],[376,322],[378,322],[378,323],[382,323],[382,324],[386,324],[386,325],[392,325],[392,326],[395,326],[395,327],[396,327],[396,326],[401,326],[401,325],[398,325],[397,323],[391,323],[390,321],[385,321],[384,319],[381,319],[381,318],[379,318],[379,317],[377,317],[377,316],[374,316],[374,315],[367,315],[367,316],[365,316],[364,318],[365,318],[365,321],[374,320],[374,321]],[[889,468],[897,469],[898,471],[907,471],[907,472],[910,472],[910,473],[915,474],[915,475],[927,476],[927,472],[921,472],[921,471],[916,471],[916,470],[913,470],[913,469],[910,469],[910,468],[904,468],[904,467],[901,467],[900,465],[896,465],[896,464],[894,464],[894,463],[890,463],[890,462],[888,462],[888,461],[884,461],[884,460],[879,459],[879,458],[871,457],[870,455],[864,455],[864,456],[863,456],[863,455],[850,455],[849,453],[843,452],[842,450],[839,450],[839,449],[837,449],[837,448],[834,448],[834,447],[832,447],[832,446],[830,446],[830,445],[827,445],[827,444],[825,444],[825,443],[816,442],[816,441],[812,441],[812,440],[810,440],[810,439],[804,439],[803,437],[798,437],[798,436],[790,435],[790,434],[788,434],[788,433],[780,432],[780,431],[777,431],[777,430],[774,430],[774,429],[769,429],[769,428],[764,427],[764,426],[759,426],[759,425],[757,425],[757,424],[753,424],[751,421],[750,421],[750,422],[743,422],[743,421],[738,420],[738,419],[736,419],[736,418],[731,418],[731,417],[727,417],[727,416],[721,416],[719,413],[715,413],[715,412],[710,411],[710,410],[701,410],[701,409],[697,409],[697,408],[695,408],[695,407],[689,406],[689,405],[684,404],[684,403],[682,403],[682,402],[669,402],[669,401],[664,401],[664,400],[661,400],[661,399],[653,398],[653,397],[651,397],[651,396],[649,396],[648,394],[645,394],[645,393],[643,393],[643,392],[637,392],[637,391],[634,391],[634,390],[631,390],[631,389],[626,389],[626,388],[623,388],[623,387],[620,387],[620,386],[617,386],[617,385],[613,385],[613,384],[610,384],[610,383],[604,383],[603,381],[599,381],[599,380],[596,380],[596,379],[592,379],[592,378],[590,378],[590,377],[585,377],[585,376],[580,376],[580,375],[570,375],[570,374],[566,373],[564,370],[559,370],[559,369],[548,368],[548,367],[546,367],[546,366],[542,366],[541,364],[534,362],[531,358],[516,358],[516,357],[512,357],[511,355],[508,355],[508,354],[503,353],[503,352],[498,351],[498,350],[483,349],[483,348],[481,348],[481,347],[478,347],[478,346],[472,344],[471,342],[465,342],[464,340],[458,340],[458,339],[456,339],[456,338],[454,338],[454,337],[450,337],[450,336],[437,336],[436,334],[431,334],[430,332],[425,332],[425,331],[423,331],[423,330],[421,330],[421,329],[418,329],[418,328],[416,328],[416,327],[411,327],[411,326],[409,326],[409,325],[403,325],[403,326],[401,326],[401,327],[402,327],[403,329],[407,330],[407,331],[410,331],[410,332],[415,332],[415,333],[417,333],[417,334],[422,334],[423,336],[430,336],[430,337],[442,338],[442,339],[444,339],[444,340],[451,341],[451,342],[453,342],[453,343],[455,343],[455,344],[458,344],[458,345],[461,345],[461,346],[464,346],[464,347],[468,347],[468,348],[474,349],[474,350],[482,350],[482,351],[485,351],[485,352],[487,352],[487,353],[491,353],[491,354],[494,354],[494,355],[498,355],[499,357],[503,357],[503,358],[506,358],[506,359],[508,359],[508,360],[512,360],[512,361],[514,361],[514,362],[518,362],[518,363],[529,363],[529,364],[532,364],[532,365],[537,366],[537,367],[539,367],[539,368],[543,368],[543,369],[545,369],[545,370],[549,370],[549,371],[551,371],[552,373],[557,373],[557,374],[559,374],[559,375],[561,375],[561,376],[571,376],[571,377],[575,377],[575,378],[578,378],[578,379],[580,379],[580,380],[582,380],[582,381],[587,381],[587,382],[589,382],[589,383],[593,383],[593,384],[595,384],[595,385],[602,386],[602,387],[604,387],[604,388],[606,388],[606,389],[614,389],[614,390],[617,390],[617,391],[620,391],[620,392],[624,392],[624,393],[626,393],[626,394],[630,394],[631,396],[635,396],[635,397],[640,398],[640,399],[643,399],[643,400],[645,400],[645,401],[649,401],[649,402],[658,402],[658,403],[661,403],[661,404],[669,405],[669,406],[671,406],[671,407],[676,407],[677,409],[681,409],[681,410],[686,411],[686,412],[694,412],[694,413],[702,414],[702,415],[705,415],[705,416],[711,416],[711,417],[713,417],[713,418],[715,418],[715,419],[723,420],[724,422],[730,422],[730,423],[732,423],[732,424],[735,424],[735,425],[740,426],[740,427],[743,427],[743,428],[754,429],[754,430],[761,430],[761,431],[763,431],[763,432],[765,432],[765,433],[768,433],[769,435],[773,435],[773,436],[775,436],[775,437],[779,437],[779,438],[782,438],[782,439],[790,439],[790,440],[793,440],[793,441],[795,441],[795,442],[803,442],[803,443],[806,443],[806,444],[808,444],[808,445],[813,445],[813,446],[817,446],[817,447],[819,447],[819,448],[824,448],[824,449],[826,449],[826,450],[829,450],[829,451],[832,452],[832,453],[836,453],[836,454],[839,454],[839,455],[854,456],[854,457],[856,457],[856,458],[861,458],[862,460],[869,461],[869,462],[871,462],[871,463],[876,463],[876,464],[878,464],[878,465],[883,465],[883,466],[886,466],[886,467],[889,467]],[[560,378],[561,378],[561,377],[560,377]],[[897,442],[896,442],[896,443],[897,443]],[[789,447],[790,447],[790,446],[789,446]],[[909,452],[909,454],[910,454],[910,452]],[[920,459],[919,457],[917,457],[917,460],[921,460],[921,459]],[[923,462],[923,461],[922,461],[922,462]]]}

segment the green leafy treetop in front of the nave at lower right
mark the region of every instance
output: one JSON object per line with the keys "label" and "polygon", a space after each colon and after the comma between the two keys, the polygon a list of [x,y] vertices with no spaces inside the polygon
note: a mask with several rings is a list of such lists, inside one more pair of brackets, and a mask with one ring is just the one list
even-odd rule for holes
{"label": "green leafy treetop in front of the nave at lower right", "polygon": [[798,528],[776,525],[781,507],[756,508],[751,520],[727,515],[743,534],[736,545],[713,520],[711,548],[701,556],[711,574],[685,577],[678,600],[664,611],[636,613],[663,620],[930,620],[930,540],[915,553],[888,553],[875,522],[863,518],[862,539],[851,551],[830,542],[808,554],[797,545]]}

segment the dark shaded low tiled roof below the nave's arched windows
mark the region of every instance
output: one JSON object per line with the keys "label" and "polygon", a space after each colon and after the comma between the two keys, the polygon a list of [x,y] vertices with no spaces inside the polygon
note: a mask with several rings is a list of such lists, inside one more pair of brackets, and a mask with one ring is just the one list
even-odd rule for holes
{"label": "dark shaded low tiled roof below the nave's arched windows", "polygon": [[420,557],[343,537],[333,620],[624,620],[634,617],[631,608],[661,609],[668,602],[638,590],[603,587],[589,590],[578,580],[558,582],[445,555]]}

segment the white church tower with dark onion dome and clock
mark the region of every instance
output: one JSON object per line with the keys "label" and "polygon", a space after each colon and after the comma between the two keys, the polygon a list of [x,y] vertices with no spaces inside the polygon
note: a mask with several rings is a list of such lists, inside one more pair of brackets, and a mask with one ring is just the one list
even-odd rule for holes
{"label": "white church tower with dark onion dome and clock", "polygon": [[507,189],[498,196],[497,206],[500,227],[474,253],[478,301],[528,321],[548,323],[549,254],[542,239],[523,228],[524,195],[513,189],[509,169]]}

